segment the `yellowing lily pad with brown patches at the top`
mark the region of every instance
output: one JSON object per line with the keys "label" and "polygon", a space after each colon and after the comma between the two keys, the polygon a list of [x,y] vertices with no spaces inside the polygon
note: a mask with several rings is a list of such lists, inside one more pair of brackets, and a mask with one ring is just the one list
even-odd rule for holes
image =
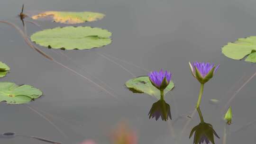
{"label": "yellowing lily pad with brown patches at the top", "polygon": [[105,15],[97,12],[69,12],[69,11],[45,11],[31,16],[32,19],[52,20],[53,22],[64,24],[79,24],[86,21],[95,21]]}

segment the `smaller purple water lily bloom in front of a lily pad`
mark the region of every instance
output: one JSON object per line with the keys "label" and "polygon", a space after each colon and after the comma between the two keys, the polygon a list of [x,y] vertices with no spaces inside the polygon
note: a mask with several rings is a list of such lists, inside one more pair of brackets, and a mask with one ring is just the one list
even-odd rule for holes
{"label": "smaller purple water lily bloom in front of a lily pad", "polygon": [[159,72],[153,71],[148,74],[149,80],[158,90],[165,90],[171,81],[172,73],[161,69]]}

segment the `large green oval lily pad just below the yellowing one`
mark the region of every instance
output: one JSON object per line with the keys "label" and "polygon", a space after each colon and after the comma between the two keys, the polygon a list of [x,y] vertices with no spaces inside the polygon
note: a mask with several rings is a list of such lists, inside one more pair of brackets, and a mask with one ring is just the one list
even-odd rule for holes
{"label": "large green oval lily pad just below the yellowing one", "polygon": [[111,43],[112,34],[98,27],[55,27],[33,34],[30,38],[38,45],[61,49],[91,49]]}

